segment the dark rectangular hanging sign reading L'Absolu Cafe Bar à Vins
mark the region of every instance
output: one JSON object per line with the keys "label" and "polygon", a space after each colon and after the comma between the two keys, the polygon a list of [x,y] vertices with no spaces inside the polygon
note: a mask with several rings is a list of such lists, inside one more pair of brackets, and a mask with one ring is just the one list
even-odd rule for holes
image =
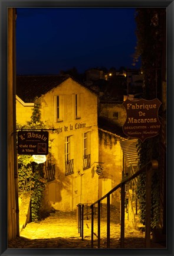
{"label": "dark rectangular hanging sign reading L'Absolu Cafe Bar \u00e0 Vins", "polygon": [[19,155],[48,155],[48,132],[19,131]]}

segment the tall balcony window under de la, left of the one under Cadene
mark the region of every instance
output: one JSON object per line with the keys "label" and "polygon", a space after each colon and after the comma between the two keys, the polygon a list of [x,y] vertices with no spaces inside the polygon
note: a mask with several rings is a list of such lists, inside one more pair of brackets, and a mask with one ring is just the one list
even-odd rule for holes
{"label": "tall balcony window under de la, left of the one under Cadene", "polygon": [[71,159],[71,136],[65,137],[65,175],[74,173],[74,159]]}

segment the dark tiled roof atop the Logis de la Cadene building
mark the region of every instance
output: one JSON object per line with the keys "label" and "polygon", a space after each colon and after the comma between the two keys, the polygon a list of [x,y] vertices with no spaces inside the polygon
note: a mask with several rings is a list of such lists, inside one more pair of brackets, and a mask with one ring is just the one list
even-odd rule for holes
{"label": "dark tiled roof atop the Logis de la Cadene building", "polygon": [[31,103],[34,102],[35,97],[41,97],[68,78],[84,86],[70,75],[19,75],[17,76],[16,94],[25,103]]}

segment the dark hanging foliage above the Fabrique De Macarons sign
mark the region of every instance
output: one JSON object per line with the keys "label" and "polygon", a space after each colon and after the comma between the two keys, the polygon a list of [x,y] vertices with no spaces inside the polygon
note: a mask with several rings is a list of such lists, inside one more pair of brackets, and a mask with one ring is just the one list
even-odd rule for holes
{"label": "dark hanging foliage above the Fabrique De Macarons sign", "polygon": [[142,62],[144,98],[161,98],[163,47],[166,43],[166,8],[137,8],[137,46],[133,66]]}

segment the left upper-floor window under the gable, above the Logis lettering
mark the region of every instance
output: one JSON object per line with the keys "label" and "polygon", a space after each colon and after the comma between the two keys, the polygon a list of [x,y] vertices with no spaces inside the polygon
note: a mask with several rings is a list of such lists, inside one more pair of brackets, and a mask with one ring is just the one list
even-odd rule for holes
{"label": "left upper-floor window under the gable, above the Logis lettering", "polygon": [[55,108],[55,123],[63,121],[64,114],[64,96],[57,95],[54,97],[54,108]]}

